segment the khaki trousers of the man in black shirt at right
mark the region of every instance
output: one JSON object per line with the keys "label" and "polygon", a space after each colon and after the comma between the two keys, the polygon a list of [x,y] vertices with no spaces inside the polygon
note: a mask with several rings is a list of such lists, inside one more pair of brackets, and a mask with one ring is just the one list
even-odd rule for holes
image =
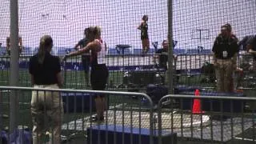
{"label": "khaki trousers of the man in black shirt at right", "polygon": [[232,92],[234,65],[231,59],[217,59],[215,63],[215,74],[218,92]]}

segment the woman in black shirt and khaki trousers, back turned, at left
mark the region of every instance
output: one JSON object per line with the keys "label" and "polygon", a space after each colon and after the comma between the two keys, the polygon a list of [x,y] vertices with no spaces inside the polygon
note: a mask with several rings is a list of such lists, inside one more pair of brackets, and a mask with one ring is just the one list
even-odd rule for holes
{"label": "woman in black shirt and khaki trousers, back turned, at left", "polygon": [[[58,57],[50,54],[53,40],[50,35],[40,39],[38,54],[30,58],[29,72],[34,88],[62,86],[61,65]],[[33,143],[42,143],[42,135],[51,130],[54,143],[60,143],[62,125],[62,98],[58,92],[33,91],[31,99]],[[47,122],[45,122],[47,120]],[[50,125],[45,125],[50,123]],[[51,129],[50,129],[51,128]]]}

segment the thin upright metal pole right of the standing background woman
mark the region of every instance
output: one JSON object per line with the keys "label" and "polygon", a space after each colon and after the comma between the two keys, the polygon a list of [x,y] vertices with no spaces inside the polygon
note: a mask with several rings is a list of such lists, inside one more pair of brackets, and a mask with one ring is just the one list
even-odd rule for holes
{"label": "thin upright metal pole right of the standing background woman", "polygon": [[173,2],[172,0],[167,0],[168,6],[168,86],[169,86],[169,94],[173,94],[174,89],[174,66],[173,66]]}

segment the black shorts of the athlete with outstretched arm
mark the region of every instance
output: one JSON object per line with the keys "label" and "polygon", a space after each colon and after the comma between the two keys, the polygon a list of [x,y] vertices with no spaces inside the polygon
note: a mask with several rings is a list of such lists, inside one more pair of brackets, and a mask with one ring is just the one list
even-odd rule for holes
{"label": "black shorts of the athlete with outstretched arm", "polygon": [[105,90],[109,77],[106,64],[92,65],[90,71],[90,84],[93,90]]}

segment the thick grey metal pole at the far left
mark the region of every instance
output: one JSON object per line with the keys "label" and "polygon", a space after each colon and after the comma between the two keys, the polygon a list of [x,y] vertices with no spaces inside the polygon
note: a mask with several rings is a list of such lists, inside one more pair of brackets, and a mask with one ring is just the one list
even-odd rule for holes
{"label": "thick grey metal pole at the far left", "polygon": [[[10,86],[18,86],[18,0],[10,0]],[[10,133],[17,127],[18,92],[10,92]]]}

